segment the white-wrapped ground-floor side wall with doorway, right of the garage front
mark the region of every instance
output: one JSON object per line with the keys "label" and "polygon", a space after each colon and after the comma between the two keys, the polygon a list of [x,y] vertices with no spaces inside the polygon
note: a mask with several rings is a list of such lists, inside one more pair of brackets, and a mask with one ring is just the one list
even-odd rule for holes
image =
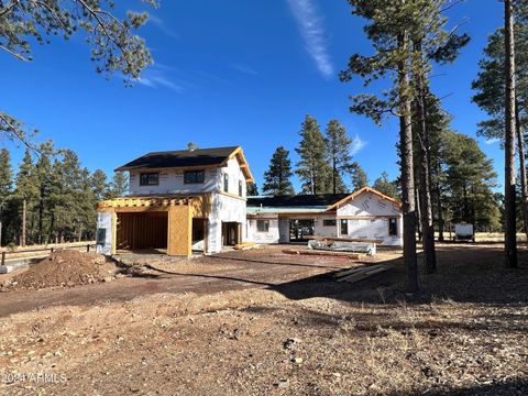
{"label": "white-wrapped ground-floor side wall with doorway, right of the garage front", "polygon": [[213,194],[208,220],[207,253],[218,253],[222,251],[222,221],[241,223],[241,239],[245,241],[248,238],[245,228],[245,199],[230,197],[223,194]]}

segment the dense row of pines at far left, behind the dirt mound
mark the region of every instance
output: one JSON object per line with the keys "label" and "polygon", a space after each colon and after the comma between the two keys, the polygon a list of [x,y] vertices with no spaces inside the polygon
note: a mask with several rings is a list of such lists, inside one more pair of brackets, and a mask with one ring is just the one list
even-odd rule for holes
{"label": "dense row of pines at far left, behind the dirt mound", "polygon": [[97,202],[127,191],[123,173],[116,173],[109,182],[105,172],[90,173],[77,154],[55,150],[52,142],[35,152],[26,148],[16,173],[9,151],[2,148],[1,245],[92,240]]}

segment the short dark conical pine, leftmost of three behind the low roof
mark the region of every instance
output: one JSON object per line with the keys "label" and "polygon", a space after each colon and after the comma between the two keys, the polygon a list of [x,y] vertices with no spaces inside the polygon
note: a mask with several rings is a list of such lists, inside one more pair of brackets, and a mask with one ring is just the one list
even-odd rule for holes
{"label": "short dark conical pine, leftmost of three behind the low roof", "polygon": [[289,161],[289,152],[283,146],[278,146],[273,153],[270,161],[270,168],[264,173],[264,185],[262,190],[264,194],[275,196],[294,195],[294,186],[292,185],[292,162]]}

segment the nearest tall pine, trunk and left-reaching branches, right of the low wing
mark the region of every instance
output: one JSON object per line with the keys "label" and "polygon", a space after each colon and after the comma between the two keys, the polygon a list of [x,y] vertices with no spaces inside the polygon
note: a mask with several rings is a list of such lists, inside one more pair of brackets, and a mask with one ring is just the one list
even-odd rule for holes
{"label": "nearest tall pine, trunk and left-reaching branches, right of the low wing", "polygon": [[359,95],[352,97],[350,110],[381,123],[384,114],[399,118],[399,153],[402,169],[402,204],[404,215],[404,262],[407,268],[407,290],[418,289],[418,263],[416,256],[416,208],[413,155],[413,124],[410,85],[410,37],[420,15],[416,1],[349,0],[352,13],[367,20],[363,28],[375,48],[373,56],[354,54],[342,81],[359,75],[365,85],[374,79],[391,77],[392,87],[382,96]]}

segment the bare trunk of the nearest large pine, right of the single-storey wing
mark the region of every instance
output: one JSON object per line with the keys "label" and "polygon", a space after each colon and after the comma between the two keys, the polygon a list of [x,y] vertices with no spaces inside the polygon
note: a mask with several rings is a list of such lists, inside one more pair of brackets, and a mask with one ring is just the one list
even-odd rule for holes
{"label": "bare trunk of the nearest large pine, right of the single-storey wing", "polygon": [[[398,46],[408,52],[408,37],[404,32],[398,37]],[[407,88],[409,86],[408,59],[398,66],[399,90],[399,145],[402,155],[402,204],[404,212],[404,263],[407,267],[406,288],[408,293],[418,290],[418,263],[416,257],[416,207],[415,176],[413,164],[411,107]]]}

